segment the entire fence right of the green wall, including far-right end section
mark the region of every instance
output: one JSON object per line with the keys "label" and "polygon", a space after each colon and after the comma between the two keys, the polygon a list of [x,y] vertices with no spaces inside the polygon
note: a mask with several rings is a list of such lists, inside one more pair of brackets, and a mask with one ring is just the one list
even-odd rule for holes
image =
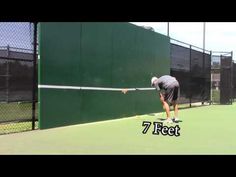
{"label": "entire fence right of the green wall, including far-right end section", "polygon": [[232,52],[216,52],[171,39],[171,75],[180,83],[180,104],[232,104],[236,65]]}

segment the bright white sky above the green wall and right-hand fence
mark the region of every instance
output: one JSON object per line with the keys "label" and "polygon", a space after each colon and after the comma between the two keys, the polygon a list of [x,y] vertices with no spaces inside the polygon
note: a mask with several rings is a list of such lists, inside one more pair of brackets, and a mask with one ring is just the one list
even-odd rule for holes
{"label": "bright white sky above the green wall and right-hand fence", "polygon": [[[138,26],[152,27],[167,35],[167,22],[131,22]],[[203,22],[169,22],[171,38],[203,48]],[[205,49],[233,51],[236,61],[236,22],[205,22]]]}

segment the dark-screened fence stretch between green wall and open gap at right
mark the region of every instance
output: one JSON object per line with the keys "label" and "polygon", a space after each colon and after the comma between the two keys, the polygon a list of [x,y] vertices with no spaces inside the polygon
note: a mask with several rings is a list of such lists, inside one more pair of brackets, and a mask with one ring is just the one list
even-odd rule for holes
{"label": "dark-screened fence stretch between green wall and open gap at right", "polygon": [[180,104],[210,103],[210,51],[171,39],[171,75],[180,83]]}

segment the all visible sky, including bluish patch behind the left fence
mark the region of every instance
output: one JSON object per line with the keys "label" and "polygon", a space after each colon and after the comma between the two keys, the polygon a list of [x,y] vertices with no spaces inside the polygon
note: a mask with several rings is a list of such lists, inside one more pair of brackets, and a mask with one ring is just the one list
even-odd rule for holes
{"label": "all visible sky, including bluish patch behind the left fence", "polygon": [[[150,26],[167,35],[167,22],[131,22],[138,26]],[[233,51],[236,60],[236,22],[206,22],[205,49]],[[0,47],[10,45],[33,49],[33,26],[30,23],[0,23]],[[203,22],[169,22],[171,38],[203,48]]]}

